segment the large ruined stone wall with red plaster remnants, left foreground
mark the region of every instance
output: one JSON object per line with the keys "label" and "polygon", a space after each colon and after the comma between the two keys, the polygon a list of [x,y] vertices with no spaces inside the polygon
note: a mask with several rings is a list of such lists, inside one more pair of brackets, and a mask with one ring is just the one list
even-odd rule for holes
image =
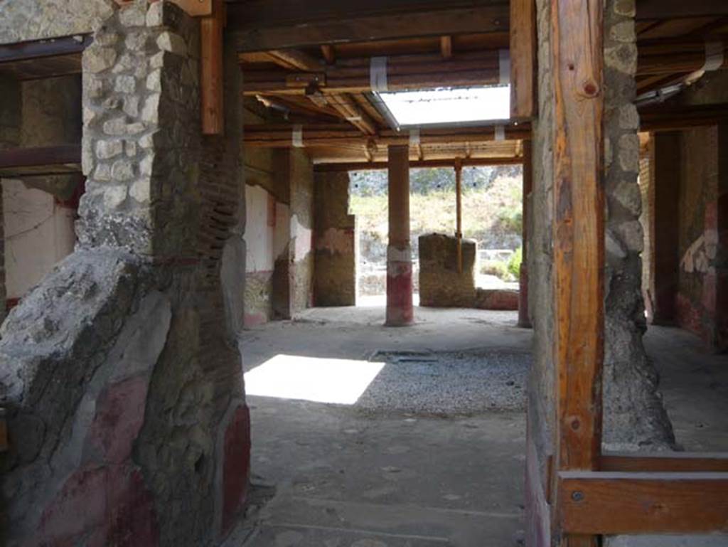
{"label": "large ruined stone wall with red plaster remnants, left foreground", "polygon": [[226,135],[203,138],[197,29],[139,1],[84,53],[79,245],[0,333],[9,546],[213,545],[245,501],[248,409],[220,282],[240,78],[228,44]]}

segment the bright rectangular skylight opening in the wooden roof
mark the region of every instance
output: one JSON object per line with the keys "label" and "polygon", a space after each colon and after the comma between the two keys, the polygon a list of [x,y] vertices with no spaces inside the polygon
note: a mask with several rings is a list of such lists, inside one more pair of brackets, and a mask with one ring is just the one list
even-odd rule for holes
{"label": "bright rectangular skylight opening in the wooden roof", "polygon": [[510,86],[438,88],[378,93],[398,127],[508,119]]}

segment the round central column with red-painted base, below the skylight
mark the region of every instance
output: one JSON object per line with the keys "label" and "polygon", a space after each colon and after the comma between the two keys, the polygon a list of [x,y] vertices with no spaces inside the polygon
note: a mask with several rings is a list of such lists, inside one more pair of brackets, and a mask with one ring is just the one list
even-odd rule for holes
{"label": "round central column with red-painted base, below the skylight", "polygon": [[387,326],[412,323],[412,252],[409,229],[409,146],[389,146]]}

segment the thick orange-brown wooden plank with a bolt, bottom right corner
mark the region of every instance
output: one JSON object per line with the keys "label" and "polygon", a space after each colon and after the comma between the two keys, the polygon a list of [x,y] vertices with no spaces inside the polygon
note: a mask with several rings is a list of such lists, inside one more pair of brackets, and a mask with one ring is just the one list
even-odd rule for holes
{"label": "thick orange-brown wooden plank with a bolt, bottom right corner", "polygon": [[725,532],[728,473],[558,473],[569,534]]}

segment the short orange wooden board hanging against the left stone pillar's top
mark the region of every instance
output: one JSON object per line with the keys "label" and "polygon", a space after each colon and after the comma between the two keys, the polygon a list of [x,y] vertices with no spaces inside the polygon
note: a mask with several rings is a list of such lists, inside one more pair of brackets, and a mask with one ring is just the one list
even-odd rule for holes
{"label": "short orange wooden board hanging against the left stone pillar's top", "polygon": [[212,13],[199,20],[200,102],[202,134],[222,135],[223,117],[223,28],[225,4],[213,0]]}

